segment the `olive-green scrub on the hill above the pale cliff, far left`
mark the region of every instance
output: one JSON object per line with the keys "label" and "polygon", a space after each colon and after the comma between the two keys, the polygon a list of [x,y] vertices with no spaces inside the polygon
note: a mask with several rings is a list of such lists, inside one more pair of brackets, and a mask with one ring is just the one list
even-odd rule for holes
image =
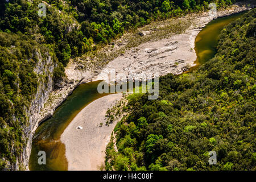
{"label": "olive-green scrub on the hill above the pale cliff, far left", "polygon": [[[36,53],[44,59],[48,52],[46,46],[27,35],[0,32],[1,159],[13,163],[22,152],[21,146],[26,142],[22,126],[26,126],[26,110],[38,88],[38,75],[34,72],[38,63]],[[5,162],[0,160],[0,168],[4,166]]]}

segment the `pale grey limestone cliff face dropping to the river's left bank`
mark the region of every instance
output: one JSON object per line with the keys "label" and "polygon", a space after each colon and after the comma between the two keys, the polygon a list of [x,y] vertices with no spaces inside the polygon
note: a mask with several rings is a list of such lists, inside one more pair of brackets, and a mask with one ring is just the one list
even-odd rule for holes
{"label": "pale grey limestone cliff face dropping to the river's left bank", "polygon": [[[24,135],[27,139],[26,146],[23,148],[22,155],[17,158],[15,164],[7,164],[7,168],[11,170],[19,170],[19,166],[24,166],[28,170],[28,162],[31,154],[31,143],[35,130],[40,122],[52,117],[56,107],[61,105],[63,101],[72,93],[80,80],[69,80],[65,78],[61,81],[53,83],[53,69],[56,64],[53,63],[51,56],[43,58],[40,51],[36,51],[38,63],[34,68],[36,75],[47,75],[47,78],[38,80],[38,91],[35,94],[34,100],[31,101],[30,107],[26,114],[28,117],[28,125],[23,127]],[[55,97],[55,96],[59,97]]]}

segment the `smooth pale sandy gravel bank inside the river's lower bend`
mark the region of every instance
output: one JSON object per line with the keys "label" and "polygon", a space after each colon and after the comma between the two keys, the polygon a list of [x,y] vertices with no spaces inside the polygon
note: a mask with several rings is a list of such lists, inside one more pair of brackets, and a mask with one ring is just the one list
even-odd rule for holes
{"label": "smooth pale sandy gravel bank inside the river's lower bend", "polygon": [[105,125],[105,115],[121,98],[119,93],[97,99],[82,109],[65,129],[60,140],[65,144],[68,170],[104,169],[105,148],[116,124]]}

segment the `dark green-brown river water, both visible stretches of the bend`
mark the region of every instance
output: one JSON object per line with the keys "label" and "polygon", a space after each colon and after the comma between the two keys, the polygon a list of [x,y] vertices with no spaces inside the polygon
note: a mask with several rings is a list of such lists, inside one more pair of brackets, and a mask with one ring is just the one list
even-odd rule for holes
{"label": "dark green-brown river water, both visible stretches of the bend", "polygon": [[[197,55],[196,67],[204,64],[216,53],[218,35],[224,26],[240,18],[243,13],[226,16],[213,20],[199,32],[195,40],[195,51]],[[67,170],[68,162],[65,158],[65,146],[60,142],[60,136],[72,119],[90,102],[97,98],[106,96],[97,92],[100,81],[90,82],[78,86],[71,96],[58,107],[52,118],[43,122],[36,130],[32,141],[30,156],[30,170]],[[46,165],[38,164],[38,152],[46,151]]]}

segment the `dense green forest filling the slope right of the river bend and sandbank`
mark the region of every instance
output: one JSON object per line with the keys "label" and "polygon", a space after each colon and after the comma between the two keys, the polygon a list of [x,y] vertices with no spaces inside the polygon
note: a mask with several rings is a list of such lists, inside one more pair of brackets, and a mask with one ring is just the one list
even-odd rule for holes
{"label": "dense green forest filling the slope right of the river bend and sandbank", "polygon": [[[255,170],[256,10],[221,31],[199,69],[160,77],[158,100],[131,94],[106,169]],[[216,151],[217,165],[208,163]]]}

